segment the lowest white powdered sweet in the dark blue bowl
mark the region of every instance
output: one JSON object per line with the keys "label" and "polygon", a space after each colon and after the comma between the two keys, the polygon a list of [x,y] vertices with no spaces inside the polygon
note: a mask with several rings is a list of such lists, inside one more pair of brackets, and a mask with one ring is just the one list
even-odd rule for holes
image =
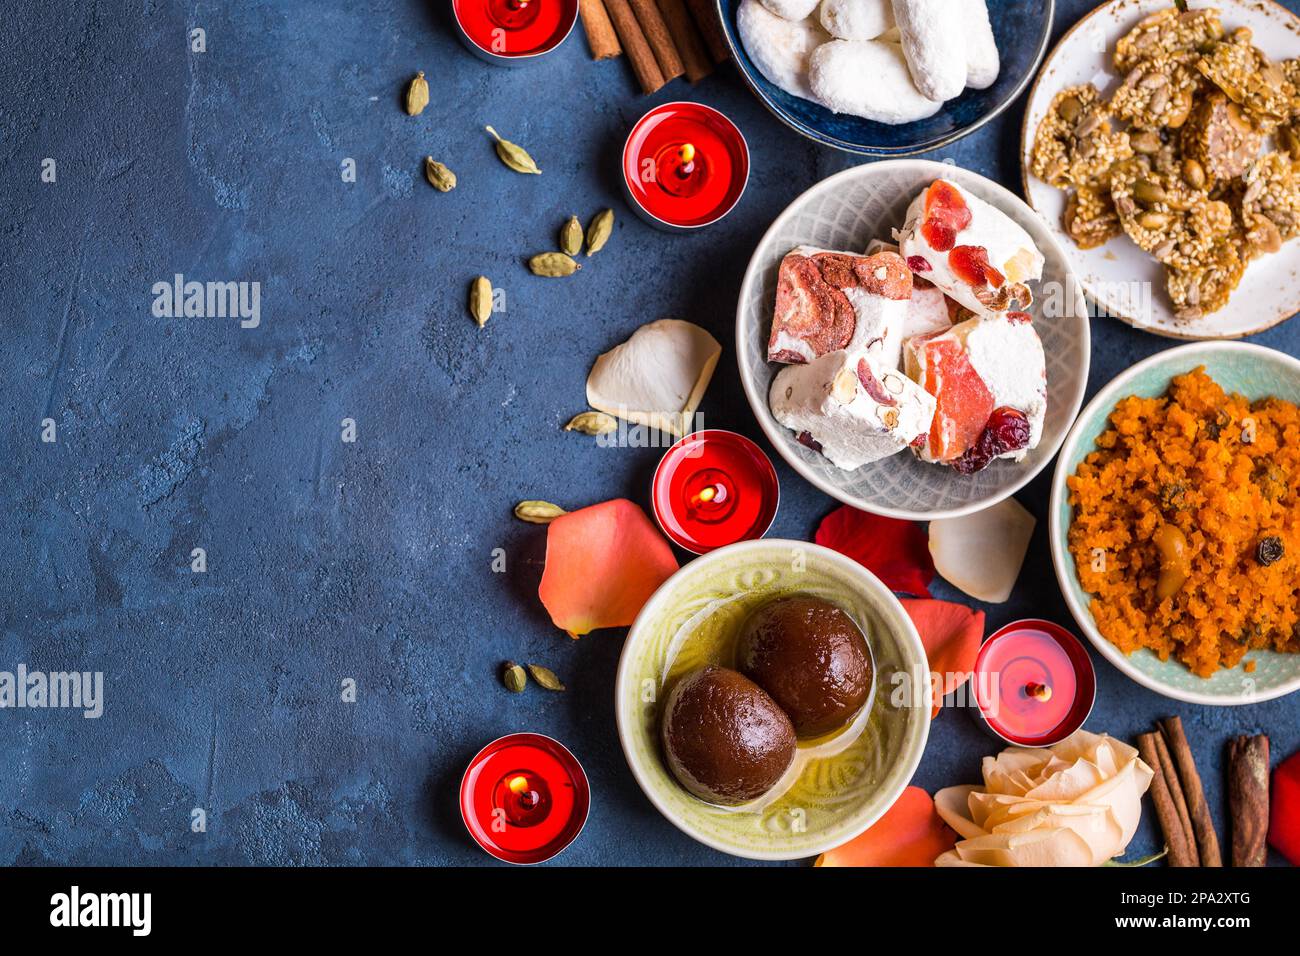
{"label": "lowest white powdered sweet in the dark blue bowl", "polygon": [[902,52],[879,40],[831,40],[815,51],[809,79],[816,99],[836,113],[876,122],[924,120],[944,105],[916,91]]}

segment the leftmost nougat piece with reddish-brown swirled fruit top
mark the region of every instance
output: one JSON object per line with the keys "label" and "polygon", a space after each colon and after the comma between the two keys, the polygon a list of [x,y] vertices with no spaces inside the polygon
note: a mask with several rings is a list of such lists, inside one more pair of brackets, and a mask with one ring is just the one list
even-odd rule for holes
{"label": "leftmost nougat piece with reddish-brown swirled fruit top", "polygon": [[767,360],[811,362],[866,349],[897,364],[911,271],[897,252],[863,256],[800,246],[781,260]]}

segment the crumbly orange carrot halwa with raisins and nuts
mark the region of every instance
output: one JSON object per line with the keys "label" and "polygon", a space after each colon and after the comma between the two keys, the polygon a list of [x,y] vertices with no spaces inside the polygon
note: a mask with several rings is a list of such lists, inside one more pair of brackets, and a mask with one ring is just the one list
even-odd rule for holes
{"label": "crumbly orange carrot halwa with raisins and nuts", "polygon": [[[1197,368],[1161,398],[1122,399],[1066,484],[1079,583],[1126,654],[1149,648],[1208,678],[1249,650],[1300,652],[1295,405],[1252,405]],[[1162,576],[1170,538],[1184,561]]]}

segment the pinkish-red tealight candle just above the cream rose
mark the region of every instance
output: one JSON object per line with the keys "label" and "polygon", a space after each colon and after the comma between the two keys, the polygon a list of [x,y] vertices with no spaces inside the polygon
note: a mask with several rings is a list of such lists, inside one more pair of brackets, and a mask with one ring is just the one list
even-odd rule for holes
{"label": "pinkish-red tealight candle just above the cream rose", "polygon": [[984,641],[975,658],[975,702],[997,736],[1049,747],[1088,719],[1097,697],[1092,658],[1050,620],[1017,620]]}

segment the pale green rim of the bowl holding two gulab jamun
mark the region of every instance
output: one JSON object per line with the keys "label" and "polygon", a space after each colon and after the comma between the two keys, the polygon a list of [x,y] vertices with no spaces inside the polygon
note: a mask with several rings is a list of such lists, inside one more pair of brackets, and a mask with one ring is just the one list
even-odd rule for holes
{"label": "pale green rim of the bowl holding two gulab jamun", "polygon": [[[819,856],[827,851],[835,849],[836,847],[844,845],[849,840],[862,835],[867,831],[876,821],[879,821],[889,808],[897,801],[898,796],[906,790],[913,778],[916,775],[916,767],[920,766],[920,760],[926,753],[926,745],[930,740],[930,727],[932,721],[930,719],[930,711],[927,708],[924,710],[926,719],[920,723],[920,735],[911,752],[905,752],[902,758],[902,767],[905,775],[898,779],[897,793],[893,795],[893,800],[889,800],[885,805],[880,806],[879,812],[861,814],[861,819],[854,819],[853,832],[845,836],[836,836],[831,840],[822,843],[815,843],[807,849],[800,849],[797,853],[790,853],[783,849],[750,849],[750,848],[737,848],[731,844],[725,844],[722,840],[716,840],[706,832],[702,832],[693,827],[690,822],[673,810],[671,810],[663,800],[655,793],[654,787],[650,784],[642,769],[638,766],[637,761],[632,757],[632,750],[629,747],[629,739],[636,732],[636,728],[629,727],[623,719],[623,708],[619,702],[624,698],[624,692],[628,687],[629,671],[632,669],[632,646],[637,637],[637,631],[644,626],[645,620],[649,620],[655,613],[658,613],[659,606],[667,601],[667,596],[671,593],[673,587],[680,581],[680,579],[686,578],[693,574],[699,574],[702,568],[720,563],[729,559],[737,554],[744,554],[745,551],[758,551],[758,550],[771,550],[771,549],[789,549],[801,548],[810,553],[816,554],[820,559],[829,562],[831,564],[838,566],[849,576],[857,578],[867,592],[875,592],[881,596],[883,604],[889,607],[893,613],[894,620],[885,623],[892,624],[890,633],[902,641],[905,645],[910,645],[914,654],[919,656],[922,666],[926,672],[922,675],[913,675],[914,679],[920,680],[924,678],[923,684],[928,687],[930,672],[928,672],[928,657],[926,654],[926,645],[920,641],[920,633],[916,631],[916,626],[907,617],[907,611],[904,609],[902,602],[898,597],[884,585],[884,583],[876,578],[871,571],[859,564],[853,558],[848,558],[838,551],[831,550],[829,548],[823,548],[822,545],[814,544],[811,541],[797,541],[793,538],[776,538],[764,537],[753,541],[738,541],[733,545],[727,545],[719,548],[718,550],[703,554],[694,561],[682,564],[668,580],[659,585],[658,591],[650,596],[650,600],[645,602],[641,611],[637,614],[636,620],[628,630],[628,636],[623,643],[623,650],[619,654],[619,669],[618,675],[614,682],[614,717],[615,724],[619,731],[619,747],[623,749],[623,758],[628,763],[628,769],[632,770],[632,777],[636,779],[637,786],[641,792],[645,793],[646,799],[654,805],[659,814],[677,827],[681,832],[690,836],[706,847],[716,849],[728,856],[736,856],[745,860],[806,860],[812,856]],[[884,617],[884,615],[881,615]],[[901,628],[898,626],[902,626]],[[915,663],[915,661],[914,661]],[[884,801],[881,801],[884,803]],[[859,826],[861,825],[861,826]]]}

